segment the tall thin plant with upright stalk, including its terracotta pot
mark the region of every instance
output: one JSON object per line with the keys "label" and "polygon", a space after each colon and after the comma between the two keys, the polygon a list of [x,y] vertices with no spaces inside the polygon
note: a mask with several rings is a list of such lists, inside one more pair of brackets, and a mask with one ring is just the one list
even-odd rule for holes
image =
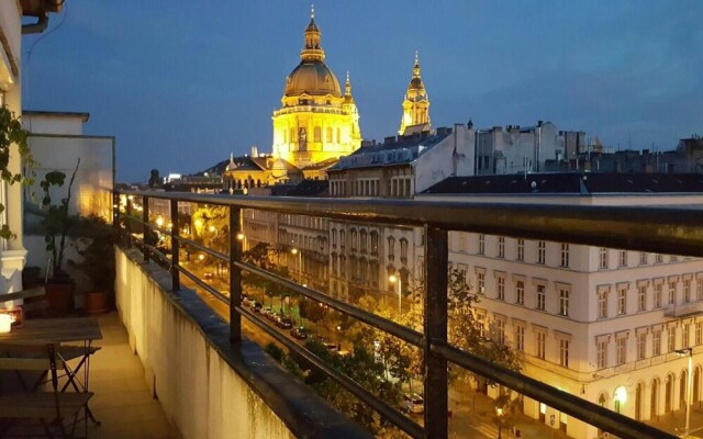
{"label": "tall thin plant with upright stalk, including its terracotta pot", "polygon": [[63,187],[66,181],[66,175],[62,171],[49,171],[40,182],[44,196],[42,199],[42,209],[46,210],[42,226],[44,229],[44,241],[46,243],[46,251],[49,255],[49,263],[46,268],[45,290],[46,300],[48,301],[48,315],[60,316],[69,314],[74,311],[74,291],[76,284],[65,270],[65,250],[66,237],[75,222],[75,217],[68,214],[68,207],[71,198],[71,188],[78,172],[80,159],[76,164],[76,169],[68,183],[68,190],[65,198],[59,203],[54,204],[52,200],[52,188]]}

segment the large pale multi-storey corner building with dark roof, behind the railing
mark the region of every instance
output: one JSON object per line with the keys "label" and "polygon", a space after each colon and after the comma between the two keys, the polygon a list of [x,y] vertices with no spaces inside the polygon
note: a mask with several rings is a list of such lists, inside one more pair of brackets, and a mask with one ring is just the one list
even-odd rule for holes
{"label": "large pale multi-storey corner building with dark roof, behind the railing", "polygon": [[[423,201],[569,205],[703,206],[694,175],[535,173],[454,177]],[[703,261],[698,258],[449,233],[449,261],[481,302],[476,316],[494,340],[524,353],[523,372],[638,420],[703,397]],[[417,261],[416,263],[422,263]],[[525,397],[524,412],[573,438],[594,427]]]}

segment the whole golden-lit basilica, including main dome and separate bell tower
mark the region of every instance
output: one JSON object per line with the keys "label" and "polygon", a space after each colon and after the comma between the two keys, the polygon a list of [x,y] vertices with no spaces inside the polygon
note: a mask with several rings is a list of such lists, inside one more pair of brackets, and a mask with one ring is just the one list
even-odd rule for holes
{"label": "whole golden-lit basilica, including main dome and separate bell tower", "polygon": [[[303,180],[324,180],[326,171],[341,157],[361,146],[359,112],[346,75],[344,90],[325,64],[322,32],[314,10],[304,32],[300,63],[286,78],[281,106],[274,111],[271,154],[231,157],[223,172],[227,189],[252,189],[295,184]],[[429,131],[429,100],[420,78],[415,54],[413,75],[402,104],[399,134]]]}

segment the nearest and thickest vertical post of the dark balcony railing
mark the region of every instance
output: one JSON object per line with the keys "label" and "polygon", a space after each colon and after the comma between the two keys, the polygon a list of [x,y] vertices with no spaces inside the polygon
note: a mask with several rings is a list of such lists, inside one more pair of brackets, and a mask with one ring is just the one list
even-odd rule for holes
{"label": "nearest and thickest vertical post of the dark balcony railing", "polygon": [[447,230],[425,225],[425,438],[448,435],[447,360],[431,345],[447,342]]}

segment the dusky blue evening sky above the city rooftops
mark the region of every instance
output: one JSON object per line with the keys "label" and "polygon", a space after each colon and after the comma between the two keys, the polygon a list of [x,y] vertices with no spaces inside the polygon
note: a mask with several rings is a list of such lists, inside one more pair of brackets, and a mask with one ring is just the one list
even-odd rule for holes
{"label": "dusky blue evening sky above the city rooftops", "polygon": [[[66,0],[23,38],[24,108],[89,112],[87,134],[118,138],[120,181],[269,153],[309,15],[292,0]],[[544,120],[659,150],[703,134],[698,0],[326,0],[315,15],[365,138],[395,134],[415,50],[435,127]]]}

